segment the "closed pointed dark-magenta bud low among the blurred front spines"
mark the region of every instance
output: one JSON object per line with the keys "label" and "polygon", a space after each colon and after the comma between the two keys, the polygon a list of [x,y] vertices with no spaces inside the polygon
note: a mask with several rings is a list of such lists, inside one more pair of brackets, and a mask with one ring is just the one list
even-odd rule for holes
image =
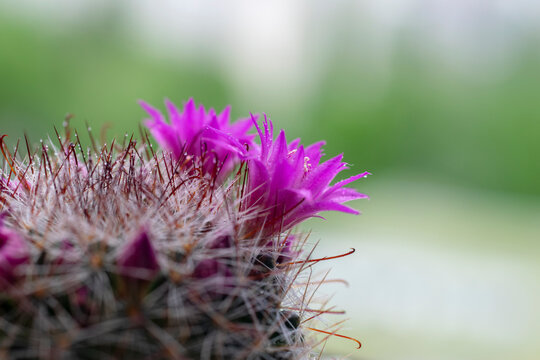
{"label": "closed pointed dark-magenta bud low among the blurred front spines", "polygon": [[116,263],[125,278],[151,280],[157,275],[159,262],[145,229],[124,248]]}

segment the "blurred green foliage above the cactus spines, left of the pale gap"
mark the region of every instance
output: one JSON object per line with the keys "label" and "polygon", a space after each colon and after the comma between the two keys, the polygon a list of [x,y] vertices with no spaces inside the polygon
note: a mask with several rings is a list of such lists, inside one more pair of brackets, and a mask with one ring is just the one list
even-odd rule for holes
{"label": "blurred green foliage above the cactus spines, left of the pale gap", "polygon": [[225,106],[227,84],[211,64],[149,58],[113,19],[60,34],[1,19],[0,33],[0,123],[10,135],[51,133],[67,112],[78,129],[88,122],[94,131],[108,124],[116,135],[137,132],[143,112],[136,100],[162,104],[164,94]]}

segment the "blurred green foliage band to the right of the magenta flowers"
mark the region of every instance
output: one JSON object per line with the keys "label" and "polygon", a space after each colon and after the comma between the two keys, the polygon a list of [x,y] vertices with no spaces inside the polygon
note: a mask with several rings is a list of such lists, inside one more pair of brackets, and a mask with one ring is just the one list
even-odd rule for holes
{"label": "blurred green foliage band to the right of the magenta flowers", "polygon": [[537,48],[488,81],[402,48],[375,100],[377,79],[342,60],[350,58],[339,53],[310,106],[317,124],[310,129],[325,135],[329,153],[343,151],[374,173],[395,169],[443,183],[540,194]]}

